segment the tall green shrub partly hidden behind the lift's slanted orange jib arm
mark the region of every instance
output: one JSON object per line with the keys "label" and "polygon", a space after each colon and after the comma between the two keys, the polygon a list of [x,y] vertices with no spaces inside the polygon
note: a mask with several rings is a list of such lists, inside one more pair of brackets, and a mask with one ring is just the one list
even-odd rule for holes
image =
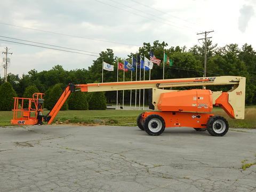
{"label": "tall green shrub partly hidden behind the lift's slanted orange jib arm", "polygon": [[[45,107],[49,110],[51,110],[55,103],[60,98],[60,95],[62,94],[63,90],[61,89],[61,84],[56,84],[53,87],[49,88],[45,92]],[[60,110],[67,110],[68,109],[68,102],[66,101]]]}

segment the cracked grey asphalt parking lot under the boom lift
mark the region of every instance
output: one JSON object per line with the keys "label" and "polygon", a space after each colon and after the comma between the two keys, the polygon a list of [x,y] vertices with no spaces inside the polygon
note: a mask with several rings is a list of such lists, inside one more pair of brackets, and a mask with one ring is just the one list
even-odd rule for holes
{"label": "cracked grey asphalt parking lot under the boom lift", "polygon": [[256,191],[256,130],[0,127],[0,191]]}

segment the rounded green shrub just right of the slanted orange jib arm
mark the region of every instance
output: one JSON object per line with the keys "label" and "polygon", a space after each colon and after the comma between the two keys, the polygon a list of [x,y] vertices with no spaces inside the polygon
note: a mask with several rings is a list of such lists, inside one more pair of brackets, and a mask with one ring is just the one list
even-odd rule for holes
{"label": "rounded green shrub just right of the slanted orange jib arm", "polygon": [[88,102],[85,93],[81,91],[71,93],[68,100],[68,109],[88,110]]}

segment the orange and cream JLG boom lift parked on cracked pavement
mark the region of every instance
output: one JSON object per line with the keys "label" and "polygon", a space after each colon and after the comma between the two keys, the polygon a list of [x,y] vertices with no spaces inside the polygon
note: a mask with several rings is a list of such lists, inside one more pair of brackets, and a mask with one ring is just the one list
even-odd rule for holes
{"label": "orange and cream JLG boom lift parked on cracked pavement", "polygon": [[[230,85],[228,92],[204,89],[166,90],[164,88],[182,86]],[[212,114],[213,106],[220,106],[235,119],[244,119],[245,77],[219,76],[151,81],[69,84],[55,103],[53,109],[42,115],[42,93],[35,93],[33,99],[14,98],[12,124],[51,124],[71,92],[99,92],[117,90],[149,89],[151,97],[149,109],[137,118],[137,125],[149,135],[163,133],[165,127],[193,127],[197,131],[207,131],[213,136],[223,136],[228,131],[228,122],[222,116]],[[23,109],[23,100],[29,100],[29,108]],[[34,103],[35,108],[31,108]],[[20,114],[20,115],[18,115]],[[35,114],[31,116],[31,114]]]}

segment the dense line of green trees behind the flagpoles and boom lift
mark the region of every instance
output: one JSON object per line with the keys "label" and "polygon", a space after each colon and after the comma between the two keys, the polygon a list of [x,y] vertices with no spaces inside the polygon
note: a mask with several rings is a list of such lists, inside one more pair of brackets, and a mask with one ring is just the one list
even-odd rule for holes
{"label": "dense line of green trees behind the flagpoles and boom lift", "polygon": [[[153,44],[143,43],[138,49],[138,54],[149,58],[149,51],[153,51],[156,58],[163,61],[163,52],[169,56],[173,61],[173,66],[165,66],[165,79],[167,78],[187,78],[187,77],[202,77],[204,73],[204,44],[202,46],[195,45],[189,49],[186,46],[168,46],[165,42],[155,41]],[[206,41],[207,48],[207,70],[206,76],[244,76],[246,77],[246,104],[256,105],[256,52],[249,44],[244,44],[239,47],[237,44],[228,44],[220,47],[217,44],[213,44],[212,41]],[[125,58],[127,61],[136,58],[137,53],[130,53]],[[43,70],[38,72],[36,69],[31,69],[28,74],[23,74],[21,77],[15,74],[8,74],[7,81],[18,95],[23,97],[27,87],[34,86],[39,92],[46,93],[45,103],[53,103],[52,95],[57,95],[58,90],[64,89],[68,83],[85,84],[85,83],[99,83],[102,77],[102,60],[114,65],[114,71],[104,71],[104,82],[116,82],[117,81],[117,62],[123,62],[121,58],[115,57],[113,50],[107,49],[102,51],[100,56],[93,60],[92,65],[88,69],[73,69],[65,70],[61,65],[55,65],[50,70]],[[123,71],[119,71],[118,81],[123,81]],[[139,70],[137,72],[137,80],[139,80]],[[143,70],[142,70],[143,79]],[[160,66],[154,65],[151,70],[150,79],[162,79],[163,78],[163,62]],[[135,73],[132,76],[135,81]],[[145,79],[149,79],[149,71],[145,73]],[[131,72],[125,73],[125,81],[131,81]],[[4,83],[4,79],[0,78],[0,84]],[[57,86],[57,88],[56,88]],[[181,87],[186,89],[187,87]],[[227,91],[230,87],[227,86],[214,86],[208,87],[212,91],[223,90]],[[1,89],[0,89],[1,90]],[[36,90],[36,91],[37,91]],[[60,92],[60,91],[59,91]],[[118,103],[122,101],[122,91],[118,95]],[[77,93],[75,93],[77,94]],[[75,95],[74,94],[74,95]],[[83,93],[84,94],[84,93]],[[105,100],[107,103],[116,102],[116,92],[106,92]],[[134,103],[134,94],[132,92]],[[138,91],[137,91],[138,94]],[[147,99],[147,92],[145,98]],[[1,93],[0,93],[1,95]],[[85,94],[84,100],[89,102],[89,95]],[[98,94],[95,94],[98,95]],[[29,96],[29,95],[28,95]],[[130,103],[130,91],[125,91],[125,103]],[[30,96],[31,97],[31,96]],[[78,97],[78,96],[77,96]],[[139,98],[139,97],[137,97]],[[0,98],[1,99],[1,98]],[[70,99],[71,100],[71,99]],[[77,99],[75,99],[77,100]],[[103,99],[104,100],[104,99]],[[139,101],[137,100],[137,103]],[[74,101],[73,101],[74,103]],[[81,103],[81,102],[80,102]],[[90,103],[89,103],[90,104]],[[48,104],[46,104],[47,106]],[[74,104],[75,105],[75,104]],[[86,104],[87,105],[87,104]],[[71,102],[69,108],[71,107]],[[87,105],[90,108],[90,105]],[[50,108],[50,106],[48,106]],[[63,107],[65,108],[65,107]],[[68,108],[68,107],[66,107]],[[72,108],[72,107],[71,107]],[[70,109],[71,109],[70,108]],[[0,109],[1,110],[1,109]]]}

